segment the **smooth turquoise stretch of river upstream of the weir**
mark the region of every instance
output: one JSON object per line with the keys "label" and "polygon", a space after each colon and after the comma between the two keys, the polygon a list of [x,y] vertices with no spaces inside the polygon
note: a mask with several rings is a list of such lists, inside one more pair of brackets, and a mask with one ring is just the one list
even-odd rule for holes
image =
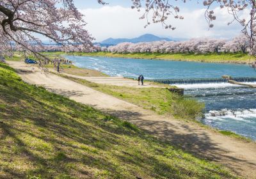
{"label": "smooth turquoise stretch of river upstream of the weir", "polygon": [[220,78],[225,74],[233,77],[256,76],[255,71],[248,65],[83,56],[67,58],[79,67],[100,70],[113,76],[135,78],[143,74],[146,79]]}

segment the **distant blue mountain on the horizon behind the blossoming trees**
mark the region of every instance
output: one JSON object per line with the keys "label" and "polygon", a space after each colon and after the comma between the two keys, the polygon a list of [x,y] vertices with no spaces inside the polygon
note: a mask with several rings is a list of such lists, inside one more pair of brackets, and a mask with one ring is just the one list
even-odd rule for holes
{"label": "distant blue mountain on the horizon behind the blossoming trees", "polygon": [[145,34],[145,35],[141,35],[137,38],[108,38],[99,43],[100,44],[108,44],[108,45],[109,44],[116,45],[116,44],[122,43],[122,42],[138,43],[138,42],[154,42],[154,41],[161,41],[161,40],[172,41],[170,38],[162,38],[162,37],[152,35],[152,34]]}

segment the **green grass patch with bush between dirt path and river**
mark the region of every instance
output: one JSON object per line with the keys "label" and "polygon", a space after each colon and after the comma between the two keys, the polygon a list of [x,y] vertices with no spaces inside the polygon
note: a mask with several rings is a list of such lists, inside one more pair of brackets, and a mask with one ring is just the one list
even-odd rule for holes
{"label": "green grass patch with bush between dirt path and river", "polygon": [[[60,74],[58,74],[60,75]],[[202,116],[204,104],[193,98],[182,97],[171,93],[167,88],[129,88],[127,86],[111,86],[96,84],[84,79],[61,75],[72,81],[84,84],[116,98],[150,109],[157,114],[169,114],[176,118],[193,119]]]}

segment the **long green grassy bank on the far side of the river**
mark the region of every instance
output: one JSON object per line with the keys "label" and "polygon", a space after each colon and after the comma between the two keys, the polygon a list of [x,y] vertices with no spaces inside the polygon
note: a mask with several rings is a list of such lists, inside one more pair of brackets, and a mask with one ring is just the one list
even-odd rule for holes
{"label": "long green grassy bank on the far side of the river", "polygon": [[[64,55],[63,52],[47,52],[50,55]],[[212,53],[212,54],[161,54],[161,53],[136,53],[118,54],[111,52],[74,52],[74,56],[101,56],[110,58],[135,58],[135,59],[163,59],[171,61],[196,61],[205,63],[237,63],[246,64],[250,61],[250,56],[243,53]]]}

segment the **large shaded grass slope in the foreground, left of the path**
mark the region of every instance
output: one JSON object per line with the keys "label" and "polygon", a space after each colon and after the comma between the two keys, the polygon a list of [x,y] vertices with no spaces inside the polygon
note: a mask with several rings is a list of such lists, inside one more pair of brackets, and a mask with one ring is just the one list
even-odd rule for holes
{"label": "large shaded grass slope in the foreground, left of the path", "polygon": [[0,178],[235,178],[0,63]]}

